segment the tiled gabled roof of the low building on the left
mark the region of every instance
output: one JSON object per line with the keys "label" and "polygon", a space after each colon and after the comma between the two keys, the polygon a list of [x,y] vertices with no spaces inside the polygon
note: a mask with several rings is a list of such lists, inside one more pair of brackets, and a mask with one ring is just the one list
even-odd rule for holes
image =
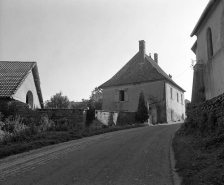
{"label": "tiled gabled roof of the low building on the left", "polygon": [[0,61],[0,98],[12,97],[30,72],[33,73],[38,98],[43,108],[40,78],[36,62]]}

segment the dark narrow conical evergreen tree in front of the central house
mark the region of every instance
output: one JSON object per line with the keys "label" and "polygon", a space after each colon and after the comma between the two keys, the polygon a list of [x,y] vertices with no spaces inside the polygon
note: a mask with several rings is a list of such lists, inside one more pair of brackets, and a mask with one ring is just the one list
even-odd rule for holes
{"label": "dark narrow conical evergreen tree in front of the central house", "polygon": [[138,110],[136,113],[136,121],[144,123],[149,118],[148,110],[145,104],[145,97],[143,91],[140,92],[138,101]]}

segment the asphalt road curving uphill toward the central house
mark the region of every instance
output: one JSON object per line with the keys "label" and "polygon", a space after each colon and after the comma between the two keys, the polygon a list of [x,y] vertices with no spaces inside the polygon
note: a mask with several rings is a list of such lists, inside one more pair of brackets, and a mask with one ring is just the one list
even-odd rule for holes
{"label": "asphalt road curving uphill toward the central house", "polygon": [[0,160],[0,185],[171,185],[169,147],[180,124],[145,126]]}

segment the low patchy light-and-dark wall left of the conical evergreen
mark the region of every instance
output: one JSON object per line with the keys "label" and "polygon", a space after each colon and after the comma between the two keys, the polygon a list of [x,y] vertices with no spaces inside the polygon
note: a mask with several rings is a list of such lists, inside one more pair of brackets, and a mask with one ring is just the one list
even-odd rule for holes
{"label": "low patchy light-and-dark wall left of the conical evergreen", "polygon": [[95,117],[104,125],[132,125],[135,123],[135,112],[96,110]]}

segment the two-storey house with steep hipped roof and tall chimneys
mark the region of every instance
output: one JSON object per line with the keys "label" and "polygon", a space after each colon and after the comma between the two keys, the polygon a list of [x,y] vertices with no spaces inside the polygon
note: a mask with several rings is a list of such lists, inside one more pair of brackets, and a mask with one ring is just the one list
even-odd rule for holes
{"label": "two-storey house with steep hipped roof and tall chimneys", "polygon": [[145,53],[145,41],[139,41],[138,53],[111,79],[99,86],[103,89],[102,109],[137,111],[143,91],[153,124],[178,121],[185,117],[184,90]]}

